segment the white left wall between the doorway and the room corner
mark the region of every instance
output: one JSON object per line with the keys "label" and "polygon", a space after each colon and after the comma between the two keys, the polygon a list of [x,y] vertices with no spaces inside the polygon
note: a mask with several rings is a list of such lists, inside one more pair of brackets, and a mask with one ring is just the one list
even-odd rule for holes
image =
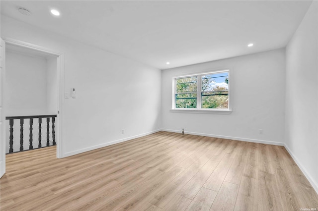
{"label": "white left wall between the doorway and the room corner", "polygon": [[160,129],[159,69],[5,16],[1,37],[65,53],[63,157]]}

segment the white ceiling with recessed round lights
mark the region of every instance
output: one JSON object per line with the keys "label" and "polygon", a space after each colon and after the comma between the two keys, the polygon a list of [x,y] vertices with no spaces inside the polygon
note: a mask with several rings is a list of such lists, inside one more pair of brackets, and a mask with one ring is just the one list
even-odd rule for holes
{"label": "white ceiling with recessed round lights", "polygon": [[[312,1],[3,1],[1,15],[167,69],[285,47]],[[30,16],[18,7],[31,11]],[[54,17],[56,8],[61,16]],[[247,48],[248,43],[254,43]],[[170,64],[167,65],[166,61]]]}

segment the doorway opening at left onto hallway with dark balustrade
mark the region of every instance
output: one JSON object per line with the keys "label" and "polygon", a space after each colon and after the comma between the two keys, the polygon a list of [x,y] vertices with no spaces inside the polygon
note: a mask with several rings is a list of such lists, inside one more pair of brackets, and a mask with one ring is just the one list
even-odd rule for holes
{"label": "doorway opening at left onto hallway with dark balustrade", "polygon": [[57,56],[5,47],[5,153],[56,145]]}

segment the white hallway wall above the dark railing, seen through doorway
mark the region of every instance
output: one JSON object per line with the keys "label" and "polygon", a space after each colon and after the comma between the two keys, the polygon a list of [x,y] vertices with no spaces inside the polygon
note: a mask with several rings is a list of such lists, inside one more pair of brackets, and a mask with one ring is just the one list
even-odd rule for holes
{"label": "white hallway wall above the dark railing, seen through doorway", "polygon": [[6,116],[47,114],[45,58],[6,51]]}

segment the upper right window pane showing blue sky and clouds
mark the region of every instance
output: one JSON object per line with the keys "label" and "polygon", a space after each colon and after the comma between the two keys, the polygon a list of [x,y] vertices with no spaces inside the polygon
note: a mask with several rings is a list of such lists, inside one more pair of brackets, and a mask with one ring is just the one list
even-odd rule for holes
{"label": "upper right window pane showing blue sky and clouds", "polygon": [[228,90],[229,88],[229,73],[222,72],[216,74],[202,75],[202,90],[201,91],[219,91]]}

